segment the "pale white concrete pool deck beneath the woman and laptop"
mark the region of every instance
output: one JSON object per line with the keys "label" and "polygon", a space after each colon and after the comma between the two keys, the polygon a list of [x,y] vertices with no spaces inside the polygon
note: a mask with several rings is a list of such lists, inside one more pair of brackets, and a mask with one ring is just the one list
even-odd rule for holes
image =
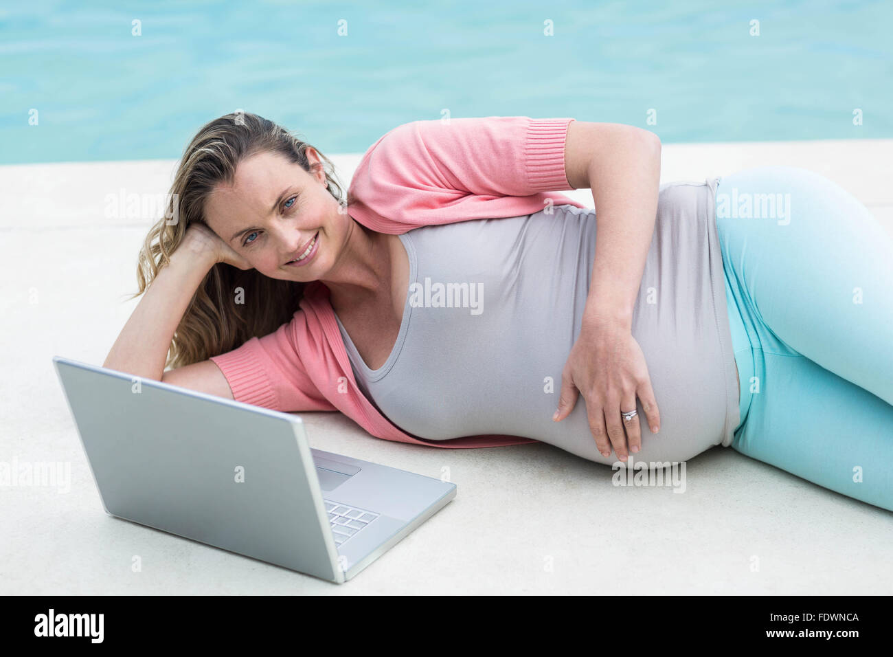
{"label": "pale white concrete pool deck beneath the woman and laptop", "polygon": [[[359,157],[331,156],[345,184]],[[0,459],[71,467],[66,493],[0,486],[0,593],[893,589],[893,513],[721,447],[690,460],[685,494],[674,494],[671,487],[614,486],[609,468],[544,443],[440,450],[373,438],[339,413],[301,414],[312,447],[427,476],[449,468],[458,486],[446,508],[340,587],[107,516],[51,358],[103,363],[138,304],[125,299],[136,291],[138,248],[153,223],[109,206],[132,193],[163,195],[174,164],[0,166]],[[822,173],[893,235],[893,139],[664,145],[662,181],[701,181],[758,164]],[[568,193],[592,205],[588,190]],[[845,435],[839,445],[847,449]],[[131,569],[135,555],[139,572]]]}

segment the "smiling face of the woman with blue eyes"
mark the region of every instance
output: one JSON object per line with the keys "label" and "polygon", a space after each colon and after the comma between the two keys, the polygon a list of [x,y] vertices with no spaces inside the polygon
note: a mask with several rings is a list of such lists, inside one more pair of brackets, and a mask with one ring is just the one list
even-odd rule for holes
{"label": "smiling face of the woman with blue eyes", "polygon": [[[307,158],[320,162],[312,148]],[[338,261],[351,221],[338,212],[325,182],[321,167],[314,175],[278,153],[258,153],[238,164],[231,186],[214,188],[205,201],[205,221],[261,274],[320,280]]]}

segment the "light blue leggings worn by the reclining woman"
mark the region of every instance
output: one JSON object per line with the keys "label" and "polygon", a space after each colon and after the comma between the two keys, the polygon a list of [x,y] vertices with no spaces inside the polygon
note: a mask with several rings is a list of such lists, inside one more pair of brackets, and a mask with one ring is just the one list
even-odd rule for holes
{"label": "light blue leggings worn by the reclining woman", "polygon": [[741,382],[732,448],[893,510],[893,239],[805,169],[747,169],[716,191]]}

